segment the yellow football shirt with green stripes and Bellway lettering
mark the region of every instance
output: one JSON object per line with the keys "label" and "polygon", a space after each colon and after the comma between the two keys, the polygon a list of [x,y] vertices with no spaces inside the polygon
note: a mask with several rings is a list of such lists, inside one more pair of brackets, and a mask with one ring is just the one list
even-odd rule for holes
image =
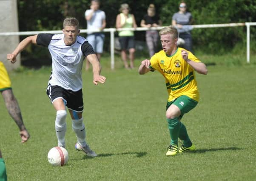
{"label": "yellow football shirt with green stripes and Bellway lettering", "polygon": [[[173,101],[181,95],[187,95],[193,100],[199,101],[199,92],[194,69],[182,58],[178,47],[174,55],[168,56],[161,50],[151,57],[150,68],[159,71],[165,78],[165,84],[169,94],[168,101]],[[188,51],[188,50],[186,50]],[[188,59],[201,62],[188,51]]]}

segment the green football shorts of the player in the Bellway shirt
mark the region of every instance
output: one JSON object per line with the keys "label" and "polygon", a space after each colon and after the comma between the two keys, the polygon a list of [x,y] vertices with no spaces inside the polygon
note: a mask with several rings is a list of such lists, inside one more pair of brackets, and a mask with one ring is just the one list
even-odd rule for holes
{"label": "green football shorts of the player in the Bellway shirt", "polygon": [[189,112],[190,110],[192,110],[194,107],[196,107],[197,105],[197,101],[191,99],[190,97],[186,96],[186,95],[182,95],[179,96],[178,98],[176,98],[175,100],[171,101],[171,102],[167,102],[166,105],[166,110],[172,105],[174,104],[175,106],[178,106],[178,108],[181,111],[181,115],[179,117],[179,119],[182,118],[182,116]]}

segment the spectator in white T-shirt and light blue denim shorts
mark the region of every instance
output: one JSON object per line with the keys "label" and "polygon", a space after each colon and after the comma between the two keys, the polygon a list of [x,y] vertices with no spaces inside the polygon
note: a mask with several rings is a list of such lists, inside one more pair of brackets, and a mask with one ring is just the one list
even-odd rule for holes
{"label": "spectator in white T-shirt and light blue denim shorts", "polygon": [[[100,0],[91,0],[90,9],[85,11],[85,19],[87,22],[88,35],[86,39],[91,44],[100,61],[103,53],[103,44],[105,34],[100,32],[106,27],[105,12],[100,10]],[[95,32],[96,31],[96,32]],[[86,70],[90,67],[89,61],[86,60]]]}

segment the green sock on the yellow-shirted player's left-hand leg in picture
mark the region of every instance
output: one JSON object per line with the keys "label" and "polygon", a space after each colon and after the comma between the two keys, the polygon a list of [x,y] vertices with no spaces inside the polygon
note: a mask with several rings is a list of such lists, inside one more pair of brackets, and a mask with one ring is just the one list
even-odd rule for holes
{"label": "green sock on the yellow-shirted player's left-hand leg in picture", "polygon": [[170,131],[171,136],[171,143],[170,145],[177,145],[178,146],[178,137],[179,137],[179,130],[180,130],[180,121],[177,117],[173,119],[167,119],[168,128]]}

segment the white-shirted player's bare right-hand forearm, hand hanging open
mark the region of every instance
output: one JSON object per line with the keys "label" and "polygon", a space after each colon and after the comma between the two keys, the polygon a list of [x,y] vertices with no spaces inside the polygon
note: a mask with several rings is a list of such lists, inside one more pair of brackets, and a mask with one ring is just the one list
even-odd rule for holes
{"label": "white-shirted player's bare right-hand forearm, hand hanging open", "polygon": [[95,54],[90,54],[86,57],[88,61],[92,64],[92,72],[93,72],[93,83],[98,85],[98,82],[101,84],[105,83],[106,78],[100,75],[101,66],[98,58]]}

